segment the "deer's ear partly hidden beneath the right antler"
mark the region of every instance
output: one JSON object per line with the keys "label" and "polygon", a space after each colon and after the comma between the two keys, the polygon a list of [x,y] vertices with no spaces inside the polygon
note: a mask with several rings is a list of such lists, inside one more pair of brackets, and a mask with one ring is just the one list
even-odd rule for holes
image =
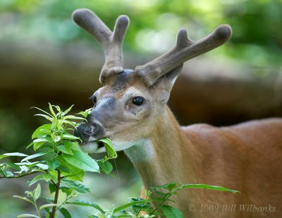
{"label": "deer's ear partly hidden beneath the right antler", "polygon": [[161,76],[157,81],[152,85],[152,87],[159,91],[171,92],[178,75],[181,73],[183,64],[169,71],[168,73]]}

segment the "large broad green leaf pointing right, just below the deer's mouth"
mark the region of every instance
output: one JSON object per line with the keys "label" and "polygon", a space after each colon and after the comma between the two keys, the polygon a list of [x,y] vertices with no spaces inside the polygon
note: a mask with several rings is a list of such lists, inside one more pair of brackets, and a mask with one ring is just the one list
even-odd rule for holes
{"label": "large broad green leaf pointing right, just below the deer's mouth", "polygon": [[94,159],[92,159],[85,152],[73,150],[73,155],[63,154],[63,159],[69,164],[78,167],[85,171],[99,172],[99,166]]}

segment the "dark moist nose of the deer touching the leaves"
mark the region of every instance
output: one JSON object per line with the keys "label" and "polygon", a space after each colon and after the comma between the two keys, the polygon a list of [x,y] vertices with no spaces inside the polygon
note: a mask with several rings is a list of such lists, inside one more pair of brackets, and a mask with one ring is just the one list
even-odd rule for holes
{"label": "dark moist nose of the deer touching the leaves", "polygon": [[80,140],[82,143],[86,143],[90,140],[90,136],[95,139],[102,138],[105,133],[105,128],[102,126],[99,121],[94,121],[92,123],[87,123],[83,121],[75,128],[74,135]]}

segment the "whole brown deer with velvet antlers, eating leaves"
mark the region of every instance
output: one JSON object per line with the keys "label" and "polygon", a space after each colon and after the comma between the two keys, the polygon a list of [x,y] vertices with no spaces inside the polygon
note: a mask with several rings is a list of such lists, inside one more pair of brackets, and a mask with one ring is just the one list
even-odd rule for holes
{"label": "whole brown deer with velvet antlers, eating leaves", "polygon": [[87,121],[75,130],[82,151],[105,152],[97,140],[110,138],[147,189],[176,181],[240,190],[182,190],[170,204],[184,217],[282,217],[281,118],[180,126],[167,105],[183,63],[227,42],[229,25],[195,41],[180,29],[173,49],[133,70],[123,68],[128,16],[119,16],[113,31],[89,9],[77,9],[72,17],[102,44],[105,55],[103,86],[90,97]]}

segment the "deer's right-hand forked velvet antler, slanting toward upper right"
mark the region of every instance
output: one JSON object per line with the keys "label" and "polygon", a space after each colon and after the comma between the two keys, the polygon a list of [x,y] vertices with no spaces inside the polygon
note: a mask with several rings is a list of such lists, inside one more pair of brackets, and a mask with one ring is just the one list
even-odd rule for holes
{"label": "deer's right-hand forked velvet antler, slanting toward upper right", "polygon": [[229,25],[219,25],[214,32],[200,40],[192,41],[188,38],[187,31],[181,29],[178,32],[176,46],[157,59],[135,68],[135,74],[140,76],[148,86],[153,85],[158,78],[180,66],[185,61],[195,56],[208,52],[227,42],[232,30]]}

